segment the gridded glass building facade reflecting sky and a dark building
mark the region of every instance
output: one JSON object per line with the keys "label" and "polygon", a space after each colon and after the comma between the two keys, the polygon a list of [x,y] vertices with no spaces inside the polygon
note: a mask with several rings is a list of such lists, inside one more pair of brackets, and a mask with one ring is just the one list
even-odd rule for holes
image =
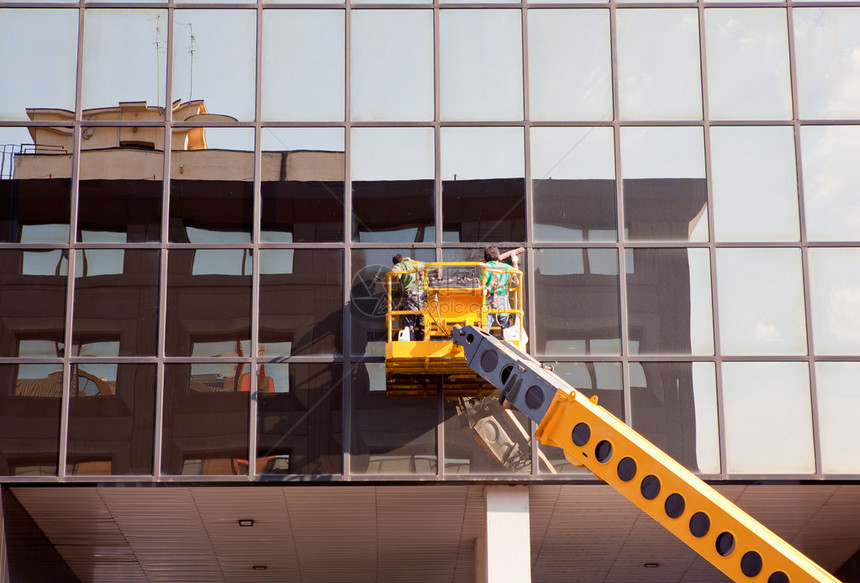
{"label": "gridded glass building facade reflecting sky and a dark building", "polygon": [[[709,480],[860,477],[856,2],[0,2],[0,482],[589,481],[385,394],[394,253]],[[398,206],[399,205],[399,206]]]}

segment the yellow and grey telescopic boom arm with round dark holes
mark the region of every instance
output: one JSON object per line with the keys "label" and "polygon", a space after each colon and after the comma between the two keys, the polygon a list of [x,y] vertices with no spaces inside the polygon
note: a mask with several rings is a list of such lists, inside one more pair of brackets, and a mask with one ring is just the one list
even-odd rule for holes
{"label": "yellow and grey telescopic boom arm with round dark holes", "polygon": [[468,366],[560,447],[734,581],[838,580],[681,464],[513,345],[455,327]]}

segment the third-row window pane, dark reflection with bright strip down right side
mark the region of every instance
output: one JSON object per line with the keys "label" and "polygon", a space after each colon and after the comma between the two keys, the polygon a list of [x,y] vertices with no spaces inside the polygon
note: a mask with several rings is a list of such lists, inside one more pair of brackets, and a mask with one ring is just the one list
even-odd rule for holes
{"label": "third-row window pane, dark reflection with bright strip down right side", "polygon": [[630,354],[714,353],[707,249],[627,252]]}

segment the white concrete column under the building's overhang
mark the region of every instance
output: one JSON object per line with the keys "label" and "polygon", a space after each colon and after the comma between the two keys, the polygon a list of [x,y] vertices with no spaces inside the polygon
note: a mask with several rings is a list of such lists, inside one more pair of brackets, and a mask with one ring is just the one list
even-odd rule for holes
{"label": "white concrete column under the building's overhang", "polygon": [[478,583],[529,583],[531,539],[528,486],[487,486],[484,537],[475,543]]}

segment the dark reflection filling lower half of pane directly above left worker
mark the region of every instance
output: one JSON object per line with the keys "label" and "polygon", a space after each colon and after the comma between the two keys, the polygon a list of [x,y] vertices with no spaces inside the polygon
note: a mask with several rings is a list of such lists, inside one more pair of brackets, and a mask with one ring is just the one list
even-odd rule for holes
{"label": "dark reflection filling lower half of pane directly above left worker", "polygon": [[433,241],[432,180],[352,183],[352,237],[356,241]]}

